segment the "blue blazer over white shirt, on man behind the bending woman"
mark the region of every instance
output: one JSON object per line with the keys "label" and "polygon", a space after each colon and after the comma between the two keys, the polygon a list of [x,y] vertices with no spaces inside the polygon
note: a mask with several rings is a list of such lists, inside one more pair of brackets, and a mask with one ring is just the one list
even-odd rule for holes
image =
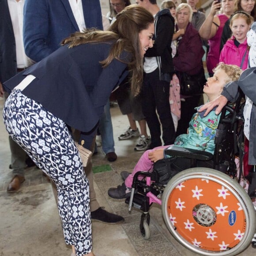
{"label": "blue blazer over white shirt, on man behind the bending woman", "polygon": [[[99,0],[82,0],[87,28],[103,29]],[[25,53],[38,62],[60,47],[79,27],[68,0],[26,0],[23,39]]]}

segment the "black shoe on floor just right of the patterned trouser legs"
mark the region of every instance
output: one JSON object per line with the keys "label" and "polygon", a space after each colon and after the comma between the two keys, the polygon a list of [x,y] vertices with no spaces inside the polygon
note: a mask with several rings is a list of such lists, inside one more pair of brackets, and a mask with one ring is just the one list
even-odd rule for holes
{"label": "black shoe on floor just right of the patterned trouser legs", "polygon": [[91,211],[91,220],[105,224],[119,224],[124,222],[124,218],[104,210],[105,207],[99,207],[96,211]]}

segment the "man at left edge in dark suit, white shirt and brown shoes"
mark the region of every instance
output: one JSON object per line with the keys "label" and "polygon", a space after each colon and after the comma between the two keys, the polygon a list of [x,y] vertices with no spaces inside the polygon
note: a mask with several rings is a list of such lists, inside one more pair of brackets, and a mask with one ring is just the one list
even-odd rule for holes
{"label": "man at left edge in dark suit, white shirt and brown shoes", "polygon": [[[25,0],[0,0],[0,97],[5,99],[2,83],[30,65],[23,45],[23,5]],[[9,136],[12,179],[7,192],[16,192],[25,181],[27,154]],[[34,164],[34,163],[33,163]]]}

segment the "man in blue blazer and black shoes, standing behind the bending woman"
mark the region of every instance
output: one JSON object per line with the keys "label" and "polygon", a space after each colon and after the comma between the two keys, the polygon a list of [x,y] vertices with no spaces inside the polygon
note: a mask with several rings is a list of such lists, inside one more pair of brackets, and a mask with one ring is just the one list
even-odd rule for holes
{"label": "man in blue blazer and black shoes, standing behind the bending woman", "polygon": [[[36,62],[58,49],[64,38],[85,28],[103,29],[99,0],[26,0],[24,6],[24,46],[26,55]],[[89,136],[83,137],[85,141],[83,146],[94,151],[95,140],[92,144],[88,144],[87,137]],[[91,141],[91,138],[88,141]],[[109,213],[99,207],[93,188],[91,162],[84,169],[90,183],[92,220],[108,224],[124,221],[123,217]],[[53,192],[56,198],[56,188],[53,188]]]}

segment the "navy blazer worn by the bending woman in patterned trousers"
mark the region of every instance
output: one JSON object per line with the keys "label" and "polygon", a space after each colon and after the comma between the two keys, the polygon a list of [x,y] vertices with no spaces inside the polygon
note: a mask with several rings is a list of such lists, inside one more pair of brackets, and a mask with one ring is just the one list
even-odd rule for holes
{"label": "navy blazer worn by the bending woman in patterned trousers", "polygon": [[[114,87],[128,75],[127,64],[114,59],[106,68],[99,64],[111,43],[64,45],[54,53],[4,83],[12,90],[26,75],[36,79],[23,90],[49,112],[81,132],[95,128]],[[124,52],[120,60],[128,61]]]}

